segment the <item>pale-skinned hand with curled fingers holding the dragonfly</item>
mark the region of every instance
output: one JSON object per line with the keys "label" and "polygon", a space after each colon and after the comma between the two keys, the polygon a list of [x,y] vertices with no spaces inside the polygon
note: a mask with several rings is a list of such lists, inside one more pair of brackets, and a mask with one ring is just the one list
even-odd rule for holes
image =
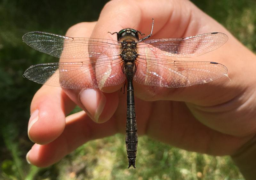
{"label": "pale-skinned hand with curled fingers holding the dragonfly", "polygon": [[[97,22],[76,24],[66,35],[116,40],[116,35],[107,32],[123,27],[147,35],[151,18],[155,20],[151,38],[227,34],[226,44],[195,60],[225,65],[230,79],[224,76],[178,89],[134,82],[139,135],[189,151],[231,155],[243,175],[252,179],[256,165],[256,157],[250,153],[256,150],[256,57],[218,22],[187,0],[111,1]],[[120,92],[123,85],[102,90],[64,90],[43,85],[31,103],[28,135],[36,144],[27,155],[28,161],[38,167],[50,166],[92,139],[124,133],[126,96]],[[76,105],[84,111],[66,117]]]}

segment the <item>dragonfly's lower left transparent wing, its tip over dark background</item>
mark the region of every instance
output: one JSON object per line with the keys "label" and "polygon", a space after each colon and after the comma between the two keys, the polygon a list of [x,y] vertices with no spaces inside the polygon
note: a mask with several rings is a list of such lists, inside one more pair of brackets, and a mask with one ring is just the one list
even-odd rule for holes
{"label": "dragonfly's lower left transparent wing, its tip over dark background", "polygon": [[68,89],[103,88],[124,82],[120,61],[120,56],[106,56],[83,62],[38,64],[29,67],[23,76],[40,84]]}

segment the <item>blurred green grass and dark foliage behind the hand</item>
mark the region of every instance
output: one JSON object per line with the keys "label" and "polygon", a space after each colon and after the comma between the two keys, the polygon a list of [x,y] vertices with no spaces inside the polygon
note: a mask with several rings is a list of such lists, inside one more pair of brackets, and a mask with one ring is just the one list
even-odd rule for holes
{"label": "blurred green grass and dark foliage behind the hand", "polygon": [[[254,0],[194,0],[242,43],[256,51]],[[21,36],[31,30],[64,35],[81,21],[97,20],[106,1],[0,1],[0,179],[242,179],[229,157],[212,157],[139,138],[135,169],[126,169],[124,136],[94,140],[49,168],[26,162],[29,106],[40,85],[24,70],[58,59],[28,48]],[[157,148],[156,148],[157,147]]]}

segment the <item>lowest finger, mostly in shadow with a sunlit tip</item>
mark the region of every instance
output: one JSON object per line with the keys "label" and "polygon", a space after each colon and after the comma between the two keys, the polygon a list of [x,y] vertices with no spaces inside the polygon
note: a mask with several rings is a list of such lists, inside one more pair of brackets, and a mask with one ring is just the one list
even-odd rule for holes
{"label": "lowest finger, mostly in shadow with a sunlit tip", "polygon": [[50,166],[85,142],[117,132],[115,119],[98,124],[91,121],[84,111],[68,116],[66,121],[66,128],[60,137],[47,145],[35,144],[31,148],[27,154],[28,162],[38,167]]}

